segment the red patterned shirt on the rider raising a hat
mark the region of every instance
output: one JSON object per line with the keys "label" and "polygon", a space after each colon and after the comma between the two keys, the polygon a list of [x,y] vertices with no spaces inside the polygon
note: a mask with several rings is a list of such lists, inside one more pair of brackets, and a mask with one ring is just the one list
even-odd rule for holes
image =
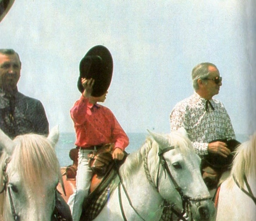
{"label": "red patterned shirt on the rider raising a hat", "polygon": [[129,145],[128,136],[107,107],[93,105],[82,95],[71,108],[70,115],[76,131],[76,146],[87,148],[115,143],[114,148],[124,150]]}

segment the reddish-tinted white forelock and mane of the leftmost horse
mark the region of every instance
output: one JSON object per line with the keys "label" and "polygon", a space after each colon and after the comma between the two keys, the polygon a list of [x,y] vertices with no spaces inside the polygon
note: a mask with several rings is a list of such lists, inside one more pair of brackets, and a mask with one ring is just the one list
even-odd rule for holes
{"label": "reddish-tinted white forelock and mane of the leftmost horse", "polygon": [[[25,134],[14,140],[15,148],[11,160],[15,162],[15,169],[28,188],[42,185],[39,183],[52,174],[57,174],[56,181],[61,178],[60,165],[50,141],[42,135]],[[0,175],[2,184],[2,166],[7,158],[5,152],[0,159]],[[7,166],[8,167],[8,166]],[[1,185],[2,186],[2,185]]]}

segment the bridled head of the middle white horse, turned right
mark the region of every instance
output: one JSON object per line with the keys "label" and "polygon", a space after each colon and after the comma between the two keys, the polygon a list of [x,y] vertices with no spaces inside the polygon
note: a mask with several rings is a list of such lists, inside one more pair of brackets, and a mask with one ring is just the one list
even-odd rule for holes
{"label": "bridled head of the middle white horse, turned right", "polygon": [[186,211],[192,220],[211,219],[214,206],[202,180],[200,158],[185,129],[164,135],[149,133],[158,148],[159,169],[155,180],[159,193],[171,205],[176,205],[176,212]]}

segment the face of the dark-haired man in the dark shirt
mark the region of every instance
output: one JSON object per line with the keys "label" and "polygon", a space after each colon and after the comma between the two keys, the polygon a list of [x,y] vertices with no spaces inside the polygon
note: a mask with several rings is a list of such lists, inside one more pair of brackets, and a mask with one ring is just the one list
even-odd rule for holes
{"label": "face of the dark-haired man in the dark shirt", "polygon": [[17,54],[0,53],[0,87],[6,91],[16,88],[20,78],[21,64]]}

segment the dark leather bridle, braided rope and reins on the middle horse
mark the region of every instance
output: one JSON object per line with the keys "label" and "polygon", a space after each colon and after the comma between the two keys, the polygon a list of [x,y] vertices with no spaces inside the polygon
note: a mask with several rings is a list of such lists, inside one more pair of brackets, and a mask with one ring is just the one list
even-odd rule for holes
{"label": "dark leather bridle, braided rope and reins on the middle horse", "polygon": [[[181,200],[182,200],[182,212],[180,213],[179,211],[177,211],[173,206],[171,206],[171,210],[172,212],[175,213],[175,215],[177,215],[179,217],[180,220],[184,220],[186,221],[186,219],[183,217],[183,215],[185,213],[189,213],[189,215],[191,215],[192,217],[192,212],[190,211],[190,207],[191,207],[191,202],[196,202],[196,206],[200,206],[200,201],[203,201],[203,200],[209,200],[211,199],[211,196],[209,197],[200,197],[200,198],[192,198],[190,196],[187,196],[186,194],[183,193],[182,191],[182,188],[178,185],[178,183],[176,182],[176,180],[174,179],[173,175],[171,174],[171,171],[167,165],[167,162],[166,162],[166,159],[164,158],[163,154],[168,152],[169,150],[172,150],[174,149],[174,146],[170,146],[168,148],[165,148],[163,151],[159,151],[158,152],[158,156],[159,156],[159,164],[158,164],[158,170],[157,170],[157,180],[156,180],[156,185],[154,184],[154,181],[152,180],[150,174],[149,174],[149,168],[148,168],[148,153],[149,153],[149,150],[146,151],[146,154],[145,154],[145,158],[144,158],[144,170],[145,170],[145,174],[146,174],[146,177],[149,181],[149,183],[156,188],[156,191],[159,193],[159,173],[160,173],[160,165],[162,165],[163,167],[163,170],[164,170],[164,173],[166,175],[166,172],[169,176],[169,178],[171,179],[171,182],[173,182],[173,185],[175,187],[175,189],[177,190],[177,192],[179,193],[179,195],[181,196]],[[121,202],[121,194],[120,194],[120,184],[122,185],[123,187],[123,190],[124,190],[124,193],[129,201],[129,204],[130,206],[133,208],[133,210],[135,211],[135,213],[143,220],[143,217],[141,215],[139,215],[139,213],[136,211],[136,209],[133,207],[132,205],[132,202],[130,200],[130,197],[126,191],[126,188],[121,180],[121,177],[120,177],[120,174],[118,172],[118,176],[119,176],[119,179],[120,179],[120,183],[119,183],[119,186],[118,186],[118,192],[119,192],[119,203],[120,203],[120,208],[121,208],[121,213],[123,215],[123,219],[125,221],[127,221],[126,217],[125,217],[125,214],[124,214],[124,209],[123,209],[123,206],[122,206],[122,202]],[[166,177],[166,176],[165,176]]]}

